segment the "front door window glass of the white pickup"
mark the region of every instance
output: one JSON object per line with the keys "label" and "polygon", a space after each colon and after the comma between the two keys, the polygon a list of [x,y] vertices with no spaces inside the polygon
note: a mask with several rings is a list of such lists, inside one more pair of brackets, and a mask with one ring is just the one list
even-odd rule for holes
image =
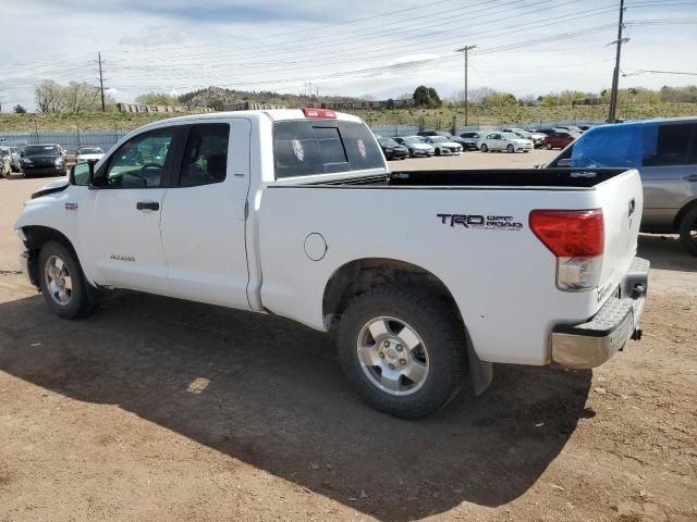
{"label": "front door window glass of the white pickup", "polygon": [[164,186],[164,169],[174,128],[144,133],[123,144],[109,159],[109,188],[159,188]]}

